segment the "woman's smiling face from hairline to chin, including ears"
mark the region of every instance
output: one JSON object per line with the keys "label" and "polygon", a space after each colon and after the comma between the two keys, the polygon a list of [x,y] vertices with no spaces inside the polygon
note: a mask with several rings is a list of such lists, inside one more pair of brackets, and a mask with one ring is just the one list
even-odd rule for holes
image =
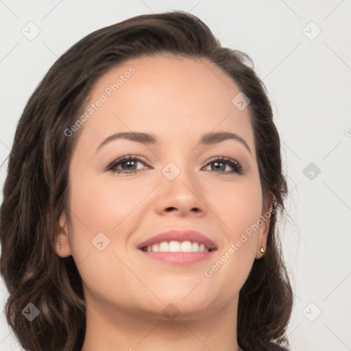
{"label": "woman's smiling face from hairline to chin, including ears", "polygon": [[[69,169],[71,220],[62,213],[56,248],[73,256],[87,302],[106,313],[168,311],[184,319],[237,304],[269,224],[260,220],[254,134],[239,93],[208,60],[171,55],[129,60],[95,84],[85,118],[77,118],[82,125],[67,132],[82,128]],[[223,132],[235,136],[207,135]],[[150,134],[156,142],[106,141],[119,133]],[[128,155],[132,160],[114,162]],[[169,230],[200,232],[215,250],[141,250]],[[177,238],[180,245],[149,250],[196,251],[192,243],[202,241],[156,241]]]}

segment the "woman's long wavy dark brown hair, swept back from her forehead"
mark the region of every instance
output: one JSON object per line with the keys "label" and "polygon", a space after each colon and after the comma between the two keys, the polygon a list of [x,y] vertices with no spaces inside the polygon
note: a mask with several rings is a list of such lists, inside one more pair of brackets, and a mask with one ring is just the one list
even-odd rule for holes
{"label": "woman's long wavy dark brown hair, swept back from her forehead", "polygon": [[[101,75],[129,58],[162,52],[207,58],[250,99],[263,199],[274,195],[274,211],[266,253],[254,261],[240,292],[237,337],[244,350],[270,350],[271,341],[287,344],[293,293],[276,237],[287,183],[266,88],[249,56],[221,47],[202,21],[176,11],[135,16],[82,38],[51,66],[25,106],[0,210],[0,271],[10,293],[6,317],[25,350],[80,350],[85,336],[82,279],[72,256],[60,258],[55,251],[69,163],[82,128],[71,137],[64,130],[82,113]],[[21,313],[30,302],[40,311],[32,322]]]}

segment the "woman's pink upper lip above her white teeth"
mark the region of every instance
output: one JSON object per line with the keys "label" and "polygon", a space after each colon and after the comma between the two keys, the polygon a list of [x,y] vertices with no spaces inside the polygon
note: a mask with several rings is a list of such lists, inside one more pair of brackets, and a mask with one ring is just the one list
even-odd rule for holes
{"label": "woman's pink upper lip above her white teeth", "polygon": [[196,241],[199,244],[204,244],[205,247],[208,247],[210,250],[217,249],[217,246],[211,239],[195,230],[169,230],[168,232],[162,232],[143,241],[137,248],[142,249],[143,247],[161,243],[162,241]]}

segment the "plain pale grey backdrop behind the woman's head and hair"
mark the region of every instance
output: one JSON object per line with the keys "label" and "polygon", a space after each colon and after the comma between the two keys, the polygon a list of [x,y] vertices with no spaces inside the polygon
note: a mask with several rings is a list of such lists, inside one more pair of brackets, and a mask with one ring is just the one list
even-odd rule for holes
{"label": "plain pale grey backdrop behind the woman's head and hair", "polygon": [[[351,350],[350,0],[0,1],[0,162],[27,99],[66,49],[95,29],[169,10],[195,14],[248,53],[267,86],[289,184],[280,232],[295,291],[291,350]],[[0,280],[0,350],[21,350],[7,297]]]}

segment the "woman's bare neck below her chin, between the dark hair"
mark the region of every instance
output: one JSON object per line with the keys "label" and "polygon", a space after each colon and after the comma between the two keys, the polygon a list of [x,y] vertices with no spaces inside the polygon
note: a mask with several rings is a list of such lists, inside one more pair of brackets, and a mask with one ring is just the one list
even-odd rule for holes
{"label": "woman's bare neck below her chin, between the dark hair", "polygon": [[[82,351],[240,351],[237,303],[201,318],[167,320],[147,311],[101,306],[86,295],[86,336]],[[195,315],[195,313],[193,313]]]}

